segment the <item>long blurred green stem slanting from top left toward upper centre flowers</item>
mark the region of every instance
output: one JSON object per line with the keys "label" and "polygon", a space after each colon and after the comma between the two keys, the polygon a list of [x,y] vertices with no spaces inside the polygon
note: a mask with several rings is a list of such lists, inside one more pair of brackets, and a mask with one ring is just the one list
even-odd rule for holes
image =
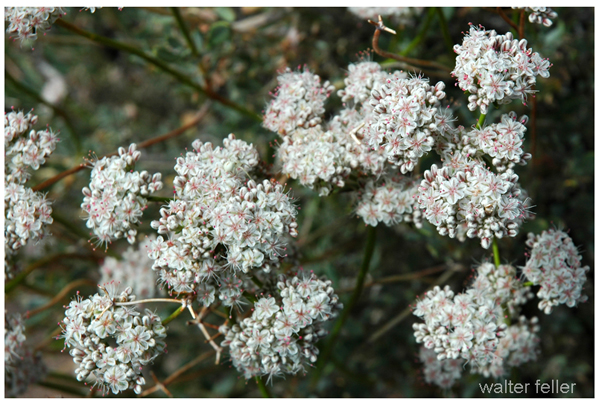
{"label": "long blurred green stem slanting from top left toward upper centre flowers", "polygon": [[102,45],[106,45],[111,48],[115,48],[115,49],[118,49],[118,50],[121,50],[124,52],[131,53],[133,55],[139,56],[140,58],[144,59],[145,61],[153,64],[154,66],[158,67],[159,69],[163,70],[164,72],[170,74],[175,79],[179,80],[181,83],[186,84],[187,86],[199,91],[200,93],[206,95],[207,97],[221,103],[222,105],[230,107],[231,109],[233,109],[249,118],[252,118],[255,121],[262,122],[262,117],[260,115],[254,113],[253,111],[246,109],[245,107],[243,107],[227,98],[224,98],[223,96],[215,93],[211,89],[202,87],[198,83],[194,82],[190,77],[173,69],[168,64],[161,61],[160,59],[155,58],[151,55],[148,55],[144,51],[135,48],[134,46],[125,44],[123,42],[115,41],[113,39],[106,38],[101,35],[94,34],[92,32],[85,31],[71,23],[66,22],[63,18],[59,18],[58,20],[56,20],[56,22],[54,24],[58,25],[62,28],[65,28],[71,32],[74,32],[78,35],[81,35],[82,37],[85,37],[85,38],[89,39],[90,41],[98,42]]}

